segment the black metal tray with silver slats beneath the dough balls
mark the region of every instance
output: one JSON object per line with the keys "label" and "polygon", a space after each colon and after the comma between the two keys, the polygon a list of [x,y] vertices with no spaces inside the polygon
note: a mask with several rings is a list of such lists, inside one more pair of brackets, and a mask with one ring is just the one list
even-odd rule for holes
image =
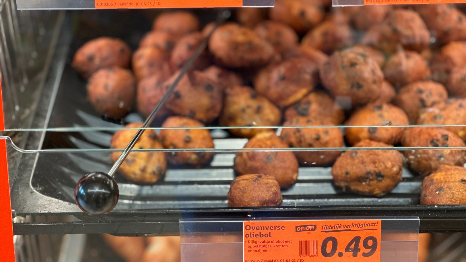
{"label": "black metal tray with silver slats beneath the dough balls", "polygon": [[[50,68],[47,70],[40,94],[41,98],[38,100],[39,104],[32,120],[32,128],[55,127],[54,121],[56,122],[56,119],[60,121],[62,119],[76,121],[71,124],[82,121],[82,119],[79,121],[76,120],[78,116],[76,115],[76,110],[74,112],[67,111],[66,106],[71,109],[79,108],[84,112],[86,111],[85,107],[92,110],[90,105],[84,103],[85,99],[82,98],[85,93],[83,91],[85,82],[79,80],[76,73],[69,66],[70,58],[74,54],[75,49],[85,40],[89,40],[85,38],[95,37],[92,34],[85,34],[84,37],[76,35],[76,29],[73,27],[73,24],[78,21],[79,13],[67,11],[61,28],[57,27],[59,33],[57,33],[57,42],[54,45],[55,52],[51,57]],[[106,14],[109,13],[107,12]],[[122,16],[121,14],[117,15]],[[98,19],[103,19],[102,17]],[[202,17],[208,19],[208,16]],[[122,23],[125,22],[123,18],[121,20]],[[130,27],[128,24],[126,26]],[[148,27],[150,27],[150,24]],[[105,29],[101,28],[101,30]],[[148,28],[142,28],[141,34],[146,29]],[[133,32],[132,30],[128,31]],[[110,31],[108,33],[111,34]],[[98,33],[96,34],[98,35]],[[64,88],[68,89],[64,90]],[[62,96],[81,96],[82,99],[76,99],[77,102],[61,101],[60,98]],[[79,104],[78,107],[78,104],[74,103],[83,104]],[[66,117],[60,117],[60,114],[66,115]],[[69,126],[72,126],[71,124]],[[24,149],[53,148],[53,145],[56,145],[54,143],[64,143],[70,145],[71,148],[81,148],[81,145],[89,142],[89,138],[79,133],[58,133],[54,134],[54,136],[51,134],[51,132],[47,131],[25,132],[22,137],[25,141]],[[111,137],[111,134],[108,133],[100,133],[99,135],[101,135],[100,137]],[[221,141],[228,139],[222,136],[222,134],[218,134],[216,141],[221,143]],[[76,143],[78,140],[86,143]],[[233,139],[230,139],[228,141],[240,143],[241,141],[239,140],[236,139],[233,141]],[[108,148],[107,144],[102,143],[96,145],[96,142],[93,142],[96,146]],[[168,199],[161,199],[159,198],[160,195],[151,194],[149,191],[144,196],[145,198],[135,200],[130,197],[130,194],[125,195],[125,190],[128,190],[128,192],[129,190],[143,192],[148,187],[130,185],[127,181],[119,180],[118,182],[121,185],[120,193],[123,192],[123,194],[120,204],[116,209],[107,215],[89,216],[82,213],[73,202],[72,196],[69,195],[70,188],[71,190],[74,189],[72,187],[75,185],[73,184],[75,183],[73,179],[84,175],[86,170],[81,170],[82,173],[76,172],[76,174],[65,172],[65,169],[59,168],[60,165],[72,163],[73,158],[62,154],[57,155],[52,160],[47,160],[42,157],[43,155],[43,153],[18,153],[15,155],[15,158],[17,158],[16,162],[21,163],[21,165],[12,165],[9,170],[10,174],[14,176],[11,188],[13,215],[18,217],[54,217],[53,222],[24,222],[21,219],[17,219],[13,225],[14,234],[109,233],[118,235],[177,235],[179,234],[179,220],[187,218],[234,219],[348,216],[418,216],[421,233],[466,231],[466,208],[461,206],[418,205],[419,190],[422,182],[420,178],[416,178],[408,172],[404,172],[403,181],[393,193],[379,199],[349,193],[343,194],[338,191],[332,186],[329,169],[301,168],[298,183],[283,193],[285,196],[284,207],[228,208],[226,207],[226,192],[234,175],[231,168],[231,156],[227,155],[221,155],[226,158],[226,160],[224,159],[227,162],[226,164],[222,164],[221,159],[214,159],[218,165],[222,166],[223,172],[212,183],[208,182],[212,177],[209,176],[209,172],[212,172],[214,166],[206,168],[203,171],[205,177],[201,177],[200,180],[199,178],[190,180],[189,176],[187,176],[188,178],[185,178],[184,181],[177,181],[175,179],[177,178],[177,172],[183,171],[177,169],[170,170],[165,176],[164,181],[156,185],[159,186],[159,189],[165,190],[164,192],[175,192]],[[55,162],[57,165],[51,165],[50,161]],[[110,163],[103,163],[103,165],[107,165],[108,167]],[[93,167],[90,166],[89,168]],[[54,181],[58,181],[58,183]],[[177,192],[180,192],[186,186],[198,188],[198,193],[206,189],[207,193],[205,195],[177,196]],[[306,193],[303,190],[304,186],[312,186],[315,191],[312,194]],[[76,219],[69,221],[69,216],[73,216]]]}

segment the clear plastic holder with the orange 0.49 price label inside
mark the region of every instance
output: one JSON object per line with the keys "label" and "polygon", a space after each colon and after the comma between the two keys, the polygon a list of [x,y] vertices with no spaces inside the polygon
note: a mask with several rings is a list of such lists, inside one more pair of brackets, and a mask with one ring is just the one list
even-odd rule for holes
{"label": "clear plastic holder with the orange 0.49 price label inside", "polygon": [[180,220],[182,262],[417,262],[418,217]]}

